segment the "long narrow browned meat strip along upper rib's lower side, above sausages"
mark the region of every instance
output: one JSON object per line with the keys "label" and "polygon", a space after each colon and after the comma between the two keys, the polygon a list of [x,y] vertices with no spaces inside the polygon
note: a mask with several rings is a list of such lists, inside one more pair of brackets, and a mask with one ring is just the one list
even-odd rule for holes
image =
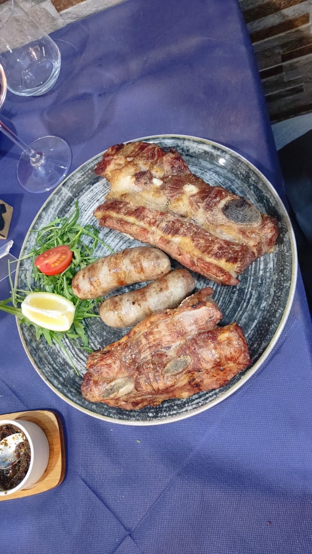
{"label": "long narrow browned meat strip along upper rib's lower side, above sausages", "polygon": [[168,212],[133,208],[127,202],[112,200],[99,206],[94,215],[100,225],[157,246],[185,267],[216,283],[238,284],[236,275],[255,259],[247,245],[214,237]]}

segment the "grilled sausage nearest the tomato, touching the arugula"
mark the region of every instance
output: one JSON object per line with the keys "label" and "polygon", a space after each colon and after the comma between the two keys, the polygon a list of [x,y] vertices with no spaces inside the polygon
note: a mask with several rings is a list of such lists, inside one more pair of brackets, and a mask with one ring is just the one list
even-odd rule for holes
{"label": "grilled sausage nearest the tomato, touching the arugula", "polygon": [[126,248],[79,269],[72,280],[73,293],[81,299],[98,298],[119,286],[158,279],[170,269],[168,256],[157,248]]}

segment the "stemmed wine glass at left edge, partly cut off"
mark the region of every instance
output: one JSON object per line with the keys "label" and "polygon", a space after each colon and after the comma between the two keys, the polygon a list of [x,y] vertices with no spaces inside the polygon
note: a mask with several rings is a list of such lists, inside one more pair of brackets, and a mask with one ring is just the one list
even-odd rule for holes
{"label": "stemmed wine glass at left edge, partly cut off", "polygon": [[[0,109],[6,94],[6,74],[0,65]],[[47,192],[63,181],[72,162],[71,148],[66,141],[46,136],[28,146],[1,120],[0,131],[22,150],[17,164],[17,178],[23,188],[29,192]]]}

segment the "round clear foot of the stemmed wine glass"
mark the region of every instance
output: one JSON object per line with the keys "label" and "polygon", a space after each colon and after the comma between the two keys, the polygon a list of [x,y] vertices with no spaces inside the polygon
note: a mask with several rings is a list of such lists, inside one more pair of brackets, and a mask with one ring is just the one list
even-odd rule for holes
{"label": "round clear foot of the stemmed wine glass", "polygon": [[41,137],[29,148],[41,156],[33,163],[26,152],[22,153],[17,164],[19,183],[29,192],[51,191],[63,181],[71,167],[71,148],[63,139],[54,136]]}

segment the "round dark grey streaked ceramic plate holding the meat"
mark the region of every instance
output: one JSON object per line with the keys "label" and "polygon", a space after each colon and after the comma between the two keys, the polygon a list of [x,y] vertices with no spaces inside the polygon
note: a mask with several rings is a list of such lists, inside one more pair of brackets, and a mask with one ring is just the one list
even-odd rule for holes
{"label": "round dark grey streaked ceramic plate holding the meat", "polygon": [[[237,286],[217,285],[199,274],[193,274],[197,289],[207,285],[214,289],[213,299],[223,312],[220,324],[227,325],[237,321],[243,328],[248,342],[251,365],[223,388],[194,394],[187,399],[172,399],[158,407],[138,411],[125,411],[102,403],[90,403],[80,393],[87,353],[74,348],[70,341],[66,344],[78,368],[77,375],[58,346],[49,347],[43,339],[37,342],[32,326],[19,326],[19,334],[34,368],[58,396],[90,416],[132,425],[168,423],[193,416],[227,398],[243,385],[268,357],[285,325],[293,300],[297,267],[295,241],[288,214],[271,184],[245,158],[217,143],[195,137],[165,135],[140,140],[157,142],[165,148],[175,148],[195,175],[212,185],[222,185],[240,196],[245,196],[261,212],[276,217],[279,236],[274,252],[265,254],[251,264],[240,276]],[[102,159],[102,155],[84,163],[56,188],[34,219],[24,241],[22,255],[33,248],[36,233],[31,231],[43,227],[57,215],[68,216],[77,200],[80,224],[91,223],[97,227],[93,212],[103,202],[109,190],[108,182],[94,173],[94,167]],[[140,244],[122,233],[105,228],[101,228],[100,237],[115,251]],[[98,257],[108,254],[105,247],[98,247]],[[173,266],[178,267],[178,264],[173,261]],[[18,289],[28,288],[27,270],[31,274],[29,259],[19,264],[16,277]],[[111,329],[98,318],[90,318],[86,326],[90,346],[94,350],[103,348],[126,332]]]}

